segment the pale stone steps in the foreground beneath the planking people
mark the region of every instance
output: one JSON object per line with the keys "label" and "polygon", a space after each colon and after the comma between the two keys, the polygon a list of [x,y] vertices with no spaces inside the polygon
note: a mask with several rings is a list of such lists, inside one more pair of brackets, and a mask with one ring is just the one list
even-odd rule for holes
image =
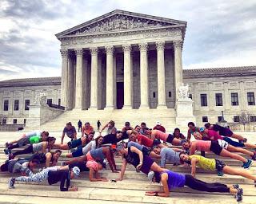
{"label": "pale stone steps in the foreground beneath the planking people", "polygon": [[[3,147],[0,147],[0,162],[4,162],[6,155],[3,154]],[[65,152],[65,151],[64,151]],[[240,154],[243,155],[243,154]],[[21,155],[21,157],[26,155]],[[207,157],[215,157],[214,154],[206,152]],[[246,155],[243,155],[247,157]],[[248,157],[247,157],[248,158]],[[66,161],[60,158],[59,163]],[[222,158],[222,160],[235,168],[242,163],[234,159]],[[115,157],[118,169],[122,165],[121,157]],[[156,160],[156,162],[159,162]],[[190,174],[190,167],[174,166],[168,163],[166,168],[172,171]],[[252,174],[256,175],[256,163],[250,167]],[[101,171],[100,174],[107,179],[118,178],[117,173],[112,173],[110,168]],[[88,172],[82,172],[78,179],[72,180],[72,185],[78,186],[77,192],[61,192],[58,184],[54,186],[43,183],[15,184],[15,189],[8,189],[7,181],[10,174],[0,173],[0,203],[237,203],[230,194],[219,194],[191,190],[188,187],[175,189],[170,192],[169,198],[145,196],[146,190],[160,190],[157,183],[148,182],[146,175],[134,171],[130,164],[126,167],[124,180],[121,182],[90,182]],[[223,182],[226,184],[238,183],[244,190],[243,203],[256,203],[256,188],[250,179],[244,179],[235,175],[223,175],[219,177],[215,172],[197,169],[197,178],[206,182]],[[44,204],[43,203],[43,204]]]}

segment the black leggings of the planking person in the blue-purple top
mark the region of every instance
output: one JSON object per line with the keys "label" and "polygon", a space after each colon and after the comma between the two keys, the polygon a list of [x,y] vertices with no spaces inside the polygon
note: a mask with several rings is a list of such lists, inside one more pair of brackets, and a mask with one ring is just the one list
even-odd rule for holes
{"label": "black leggings of the planking person in the blue-purple top", "polygon": [[185,175],[185,186],[189,186],[194,190],[207,191],[207,192],[230,192],[230,188],[226,184],[220,182],[203,182],[194,179],[192,175]]}

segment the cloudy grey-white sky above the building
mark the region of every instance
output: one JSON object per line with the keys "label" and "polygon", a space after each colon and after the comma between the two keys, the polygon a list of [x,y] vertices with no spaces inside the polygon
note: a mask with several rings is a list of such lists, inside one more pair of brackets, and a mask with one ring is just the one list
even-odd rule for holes
{"label": "cloudy grey-white sky above the building", "polygon": [[54,34],[116,9],[186,21],[183,69],[256,65],[255,0],[1,0],[0,80],[61,76]]}

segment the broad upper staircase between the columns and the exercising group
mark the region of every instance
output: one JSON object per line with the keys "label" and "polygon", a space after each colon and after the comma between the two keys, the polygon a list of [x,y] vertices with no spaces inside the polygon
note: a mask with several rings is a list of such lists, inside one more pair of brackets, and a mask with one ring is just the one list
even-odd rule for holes
{"label": "broad upper staircase between the columns and the exercising group", "polygon": [[[82,120],[82,124],[87,121],[97,128],[97,121],[100,120],[104,126],[110,120],[114,120],[115,127],[122,129],[126,121],[130,121],[132,127],[142,122],[146,122],[147,126],[153,128],[156,122],[160,121],[166,130],[172,132],[176,127],[174,108],[168,109],[130,109],[130,110],[70,110],[62,113],[62,115],[49,120],[46,124],[42,124],[40,129],[47,131],[62,131],[67,122],[71,122],[75,128],[78,128],[78,120]],[[29,127],[25,128],[30,131]]]}

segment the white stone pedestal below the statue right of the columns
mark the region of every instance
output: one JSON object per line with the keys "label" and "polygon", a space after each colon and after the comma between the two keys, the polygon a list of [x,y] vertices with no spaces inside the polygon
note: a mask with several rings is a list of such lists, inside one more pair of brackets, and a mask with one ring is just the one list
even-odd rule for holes
{"label": "white stone pedestal below the statue right of the columns", "polygon": [[186,127],[190,121],[195,121],[193,115],[193,101],[190,98],[178,99],[175,105],[176,124]]}

